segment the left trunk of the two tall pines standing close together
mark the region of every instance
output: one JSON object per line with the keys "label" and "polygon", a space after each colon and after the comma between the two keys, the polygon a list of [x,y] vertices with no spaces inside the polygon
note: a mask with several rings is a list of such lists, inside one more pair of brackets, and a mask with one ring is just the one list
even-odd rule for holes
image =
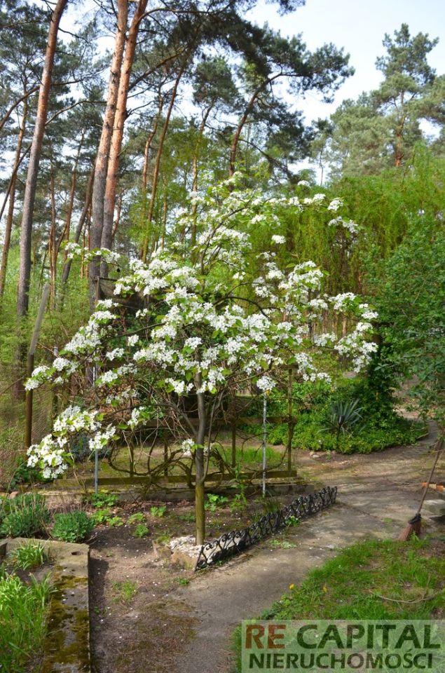
{"label": "left trunk of the two tall pines standing close together", "polygon": [[[118,6],[118,27],[114,42],[114,53],[111,60],[111,69],[109,76],[107,106],[105,108],[104,121],[102,124],[102,133],[100,136],[99,147],[97,148],[97,157],[95,164],[95,177],[93,182],[93,200],[92,200],[92,221],[90,226],[90,248],[100,247],[102,240],[102,229],[104,226],[104,196],[107,181],[107,170],[109,161],[109,152],[111,146],[111,137],[113,135],[114,117],[116,114],[116,104],[118,100],[119,80],[121,77],[121,66],[123,51],[125,48],[125,32],[127,30],[128,20],[128,1],[117,0]],[[91,310],[95,304],[96,278],[100,273],[100,260],[97,257],[90,261],[88,276],[90,279],[90,307]]]}

